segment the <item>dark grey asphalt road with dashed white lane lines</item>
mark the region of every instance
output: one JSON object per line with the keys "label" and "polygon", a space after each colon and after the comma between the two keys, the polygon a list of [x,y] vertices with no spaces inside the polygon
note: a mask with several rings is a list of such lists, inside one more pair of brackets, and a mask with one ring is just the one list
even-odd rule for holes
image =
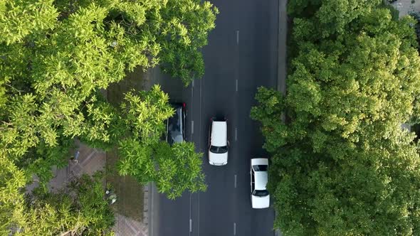
{"label": "dark grey asphalt road with dashed white lane lines", "polygon": [[[193,85],[162,77],[162,89],[187,103],[187,134],[204,152],[205,193],[177,200],[159,195],[159,236],[274,235],[272,208],[251,208],[249,164],[266,157],[258,123],[250,117],[257,87],[277,87],[278,11],[274,0],[214,0],[220,14],[204,50],[206,74]],[[229,163],[211,166],[207,139],[210,117],[229,122]],[[152,235],[153,236],[153,235]]]}

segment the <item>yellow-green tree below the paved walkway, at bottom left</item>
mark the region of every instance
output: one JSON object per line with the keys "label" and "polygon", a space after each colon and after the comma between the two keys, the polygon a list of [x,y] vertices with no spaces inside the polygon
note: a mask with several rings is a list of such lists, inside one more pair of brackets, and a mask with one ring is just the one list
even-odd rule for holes
{"label": "yellow-green tree below the paved walkway, at bottom left", "polygon": [[115,218],[102,178],[101,172],[83,175],[66,192],[35,191],[26,198],[26,222],[16,235],[111,235]]}

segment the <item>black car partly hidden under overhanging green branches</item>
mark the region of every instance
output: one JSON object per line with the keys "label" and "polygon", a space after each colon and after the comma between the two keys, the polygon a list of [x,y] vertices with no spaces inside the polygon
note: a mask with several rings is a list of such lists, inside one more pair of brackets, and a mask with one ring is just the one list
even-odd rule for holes
{"label": "black car partly hidden under overhanging green branches", "polygon": [[182,143],[186,141],[185,120],[187,117],[187,108],[185,102],[171,103],[175,109],[172,117],[167,119],[167,142],[169,144]]}

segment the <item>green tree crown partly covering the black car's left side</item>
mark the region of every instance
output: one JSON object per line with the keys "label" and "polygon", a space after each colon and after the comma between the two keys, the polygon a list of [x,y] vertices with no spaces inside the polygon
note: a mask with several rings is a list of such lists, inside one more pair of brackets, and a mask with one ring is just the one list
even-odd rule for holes
{"label": "green tree crown partly covering the black car's left side", "polygon": [[168,100],[158,85],[137,95],[125,95],[121,114],[126,131],[118,144],[118,172],[134,176],[141,184],[154,181],[159,193],[174,199],[186,190],[205,191],[206,184],[202,154],[195,152],[193,143],[169,146],[160,140],[166,132],[164,122],[174,113]]}

